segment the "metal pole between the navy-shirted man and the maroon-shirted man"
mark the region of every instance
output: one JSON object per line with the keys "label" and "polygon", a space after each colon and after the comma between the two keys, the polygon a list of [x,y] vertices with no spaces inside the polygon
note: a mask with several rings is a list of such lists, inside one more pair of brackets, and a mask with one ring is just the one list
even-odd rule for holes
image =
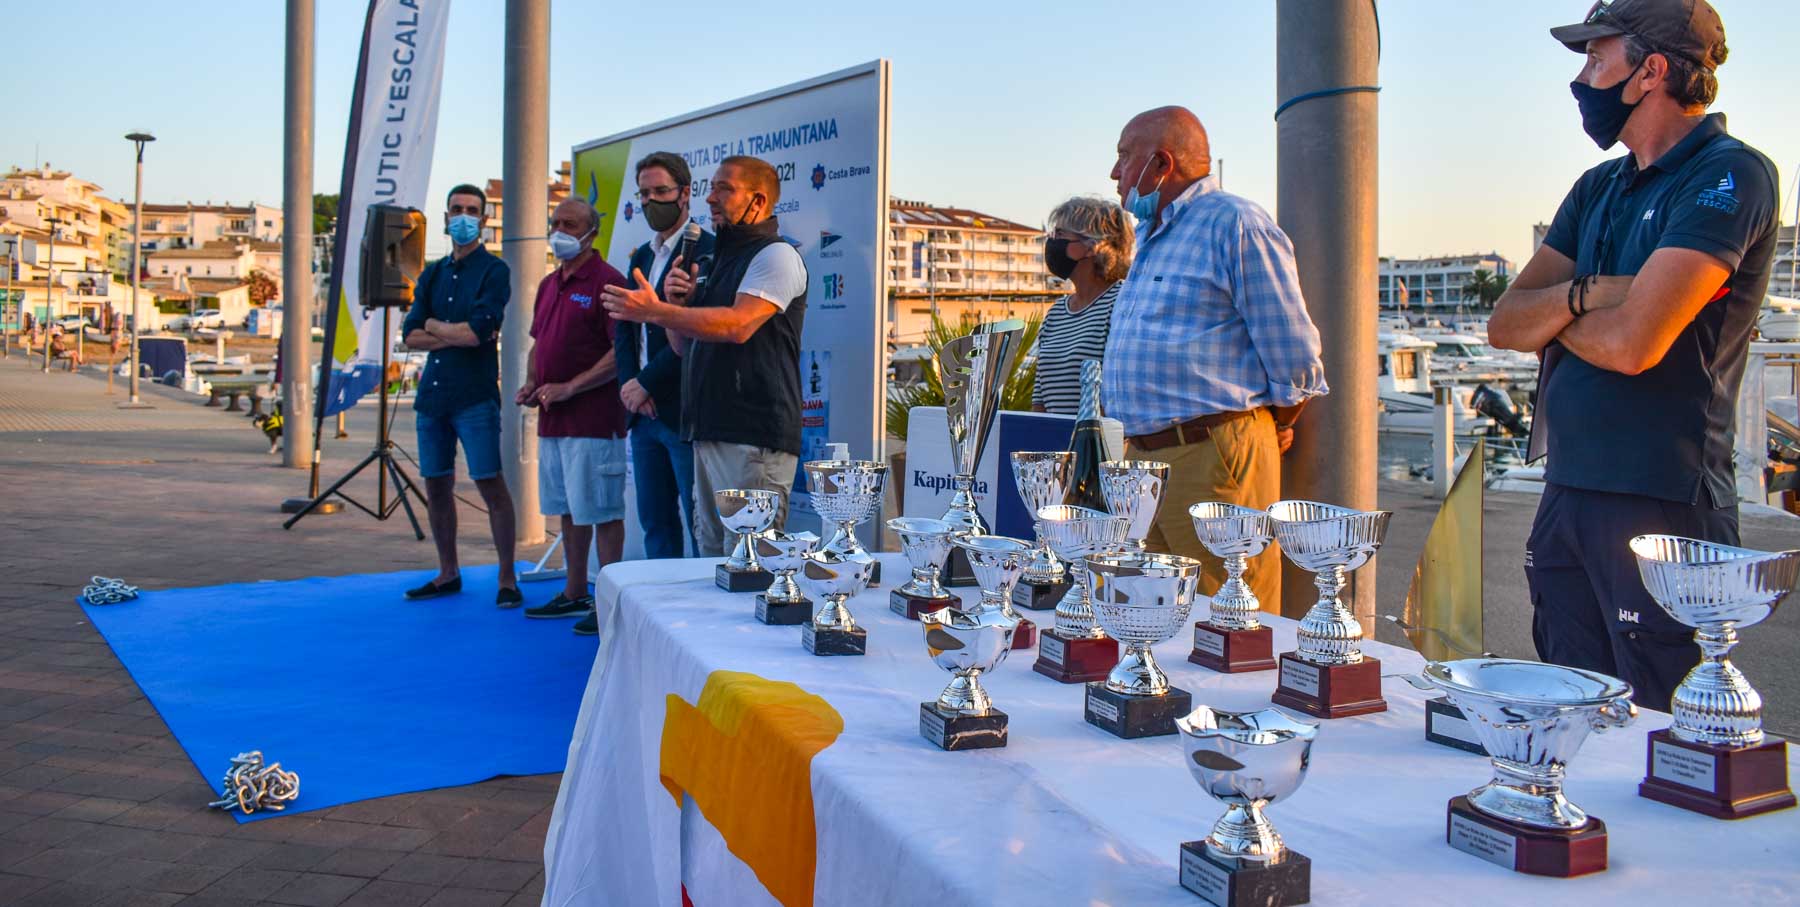
{"label": "metal pole between the navy-shirted man and the maroon-shirted man", "polygon": [[513,403],[526,383],[526,353],[538,279],[544,277],[544,207],[549,178],[549,0],[506,0],[506,101],[500,178],[506,182],[504,259],[513,272],[513,299],[500,331],[500,461],[513,491],[518,542],[544,540],[538,515],[536,410]]}

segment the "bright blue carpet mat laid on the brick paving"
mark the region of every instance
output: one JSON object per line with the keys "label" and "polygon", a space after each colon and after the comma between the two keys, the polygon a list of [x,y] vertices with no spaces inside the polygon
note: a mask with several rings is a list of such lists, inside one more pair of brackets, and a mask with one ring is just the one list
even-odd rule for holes
{"label": "bright blue carpet mat laid on the brick paving", "polygon": [[[430,601],[401,597],[434,576],[416,570],[83,608],[214,790],[243,750],[299,772],[286,812],[248,817],[266,819],[563,770],[596,637],[495,608],[497,574],[464,569]],[[524,590],[540,605],[560,583]]]}

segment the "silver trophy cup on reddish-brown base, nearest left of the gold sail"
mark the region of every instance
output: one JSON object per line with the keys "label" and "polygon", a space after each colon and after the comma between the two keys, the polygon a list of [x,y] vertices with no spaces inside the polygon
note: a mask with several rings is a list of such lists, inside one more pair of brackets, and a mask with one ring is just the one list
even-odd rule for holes
{"label": "silver trophy cup on reddish-brown base, nearest left of the gold sail", "polygon": [[1355,511],[1310,500],[1269,506],[1274,538],[1294,567],[1312,576],[1319,599],[1300,621],[1300,650],[1283,651],[1273,702],[1316,718],[1388,709],[1381,662],[1363,655],[1363,624],[1337,597],[1350,570],[1363,567],[1388,536],[1390,511]]}

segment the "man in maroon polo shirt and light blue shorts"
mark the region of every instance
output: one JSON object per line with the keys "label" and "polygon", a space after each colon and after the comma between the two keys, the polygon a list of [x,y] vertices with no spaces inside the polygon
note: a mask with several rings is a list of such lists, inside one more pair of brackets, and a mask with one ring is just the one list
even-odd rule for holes
{"label": "man in maroon polo shirt and light blue shorts", "polygon": [[560,265],[538,283],[531,319],[526,387],[517,401],[538,412],[538,509],[562,518],[569,578],[549,603],[526,617],[585,617],[574,632],[594,635],[594,597],[587,594],[587,547],[599,561],[619,560],[625,547],[625,405],[619,401],[612,315],[599,304],[601,286],[625,277],[594,250],[599,214],[569,198],[551,214],[551,254]]}

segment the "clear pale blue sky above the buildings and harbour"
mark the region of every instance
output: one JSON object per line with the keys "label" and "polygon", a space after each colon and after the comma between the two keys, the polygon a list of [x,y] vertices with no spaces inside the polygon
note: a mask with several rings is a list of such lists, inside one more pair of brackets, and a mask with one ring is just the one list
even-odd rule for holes
{"label": "clear pale blue sky above the buildings and harbour", "polygon": [[[1782,173],[1800,166],[1800,4],[1715,0],[1732,47],[1714,110]],[[664,16],[664,9],[679,11]],[[1499,250],[1602,153],[1568,81],[1580,58],[1546,29],[1586,0],[1381,5],[1381,250]],[[500,0],[455,0],[432,194],[500,175]],[[364,4],[319,0],[315,191],[337,191]],[[283,4],[76,0],[7,9],[0,166],[34,153],[131,194],[135,128],[157,133],[146,198],[281,200]],[[1274,207],[1274,4],[941,2],[553,7],[551,135],[576,142],[862,63],[893,59],[891,189],[1040,223],[1109,193],[1118,128],[1186,104],[1226,184]]]}

